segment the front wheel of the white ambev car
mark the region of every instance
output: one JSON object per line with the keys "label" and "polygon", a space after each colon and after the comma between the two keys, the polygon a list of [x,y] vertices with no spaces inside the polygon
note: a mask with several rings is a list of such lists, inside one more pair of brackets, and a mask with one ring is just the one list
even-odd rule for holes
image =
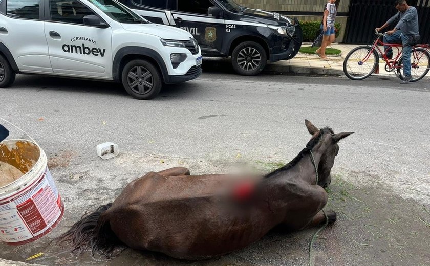
{"label": "front wheel of the white ambev car", "polygon": [[149,100],[161,91],[162,81],[157,68],[143,59],[128,62],[122,70],[125,91],[139,100]]}

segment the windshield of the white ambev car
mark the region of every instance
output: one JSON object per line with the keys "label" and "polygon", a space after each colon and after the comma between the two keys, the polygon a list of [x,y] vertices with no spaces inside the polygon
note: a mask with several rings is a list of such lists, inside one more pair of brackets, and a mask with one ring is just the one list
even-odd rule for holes
{"label": "windshield of the white ambev car", "polygon": [[114,0],[90,0],[98,9],[120,23],[149,23]]}

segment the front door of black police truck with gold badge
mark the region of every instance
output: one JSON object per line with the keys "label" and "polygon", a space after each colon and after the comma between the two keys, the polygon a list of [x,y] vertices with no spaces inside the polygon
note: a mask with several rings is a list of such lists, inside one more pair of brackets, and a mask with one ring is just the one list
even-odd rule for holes
{"label": "front door of black police truck with gold badge", "polygon": [[178,0],[171,6],[170,25],[188,31],[199,42],[202,54],[219,56],[225,24],[223,18],[207,15],[210,0]]}

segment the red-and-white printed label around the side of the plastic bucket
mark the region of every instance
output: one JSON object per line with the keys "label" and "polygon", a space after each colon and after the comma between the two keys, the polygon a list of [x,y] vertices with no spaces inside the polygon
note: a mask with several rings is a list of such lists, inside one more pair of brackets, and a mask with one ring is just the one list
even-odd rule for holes
{"label": "red-and-white printed label around the side of the plastic bucket", "polygon": [[61,199],[46,168],[36,182],[0,201],[0,240],[21,242],[44,233],[61,216]]}

